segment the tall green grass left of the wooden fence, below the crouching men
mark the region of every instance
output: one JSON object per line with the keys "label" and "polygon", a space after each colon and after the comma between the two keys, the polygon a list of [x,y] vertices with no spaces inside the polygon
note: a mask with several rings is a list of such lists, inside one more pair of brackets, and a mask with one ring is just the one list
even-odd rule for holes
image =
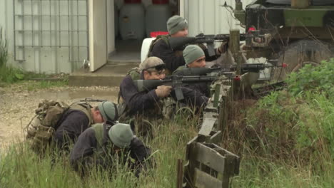
{"label": "tall green grass left of the wooden fence, below the crouching men", "polygon": [[176,160],[185,155],[186,143],[196,135],[197,126],[197,118],[185,115],[154,124],[154,137],[146,143],[156,165],[139,178],[120,165],[111,172],[91,169],[81,179],[69,167],[68,156],[39,158],[23,143],[13,144],[0,153],[0,187],[175,187]]}

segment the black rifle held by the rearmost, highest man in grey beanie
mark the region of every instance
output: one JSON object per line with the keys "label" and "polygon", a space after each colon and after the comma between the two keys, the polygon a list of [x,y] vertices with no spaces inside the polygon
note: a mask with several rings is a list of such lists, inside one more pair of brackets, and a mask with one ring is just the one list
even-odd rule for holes
{"label": "black rifle held by the rearmost, highest man in grey beanie", "polygon": [[[182,48],[192,43],[206,43],[208,47],[208,55],[215,56],[215,46],[214,41],[228,41],[230,39],[229,34],[218,34],[218,35],[204,35],[203,33],[198,34],[195,37],[181,36],[181,37],[171,37],[168,39],[169,45],[172,49]],[[240,40],[246,40],[246,34],[240,34]]]}

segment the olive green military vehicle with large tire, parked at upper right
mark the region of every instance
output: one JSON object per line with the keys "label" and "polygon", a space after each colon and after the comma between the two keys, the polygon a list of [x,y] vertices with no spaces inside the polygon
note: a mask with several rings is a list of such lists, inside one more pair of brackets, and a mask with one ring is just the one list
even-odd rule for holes
{"label": "olive green military vehicle with large tire, parked at upper right", "polygon": [[236,18],[246,27],[248,58],[276,58],[273,78],[305,63],[334,57],[334,0],[255,0],[246,11],[236,0]]}

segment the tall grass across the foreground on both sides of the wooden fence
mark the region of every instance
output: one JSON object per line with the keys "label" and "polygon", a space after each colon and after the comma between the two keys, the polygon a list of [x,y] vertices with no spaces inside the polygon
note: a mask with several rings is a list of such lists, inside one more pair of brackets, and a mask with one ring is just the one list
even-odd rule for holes
{"label": "tall grass across the foreground on both sides of the wooden fence", "polygon": [[[299,106],[301,98],[279,105],[273,95],[251,108],[238,109],[242,112],[238,117],[244,117],[231,120],[225,132],[221,145],[242,157],[241,172],[233,178],[232,187],[333,187],[334,98],[307,95],[301,109],[309,113],[299,115],[289,108]],[[255,115],[258,110],[261,116]],[[314,112],[317,115],[311,116]],[[279,117],[273,118],[277,113]],[[263,120],[268,122],[259,123]],[[13,144],[0,154],[0,187],[175,187],[176,160],[184,158],[198,122],[179,115],[155,125],[155,137],[146,143],[153,149],[156,167],[139,179],[123,166],[111,172],[92,169],[81,179],[69,167],[67,155],[56,160],[53,155],[39,158],[26,145]]]}

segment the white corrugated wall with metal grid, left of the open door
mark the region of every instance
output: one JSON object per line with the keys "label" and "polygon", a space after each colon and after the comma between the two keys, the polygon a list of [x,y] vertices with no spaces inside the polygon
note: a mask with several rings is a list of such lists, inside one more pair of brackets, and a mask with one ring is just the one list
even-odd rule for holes
{"label": "white corrugated wall with metal grid, left of the open door", "polygon": [[71,73],[88,58],[87,0],[1,0],[0,6],[16,66]]}

